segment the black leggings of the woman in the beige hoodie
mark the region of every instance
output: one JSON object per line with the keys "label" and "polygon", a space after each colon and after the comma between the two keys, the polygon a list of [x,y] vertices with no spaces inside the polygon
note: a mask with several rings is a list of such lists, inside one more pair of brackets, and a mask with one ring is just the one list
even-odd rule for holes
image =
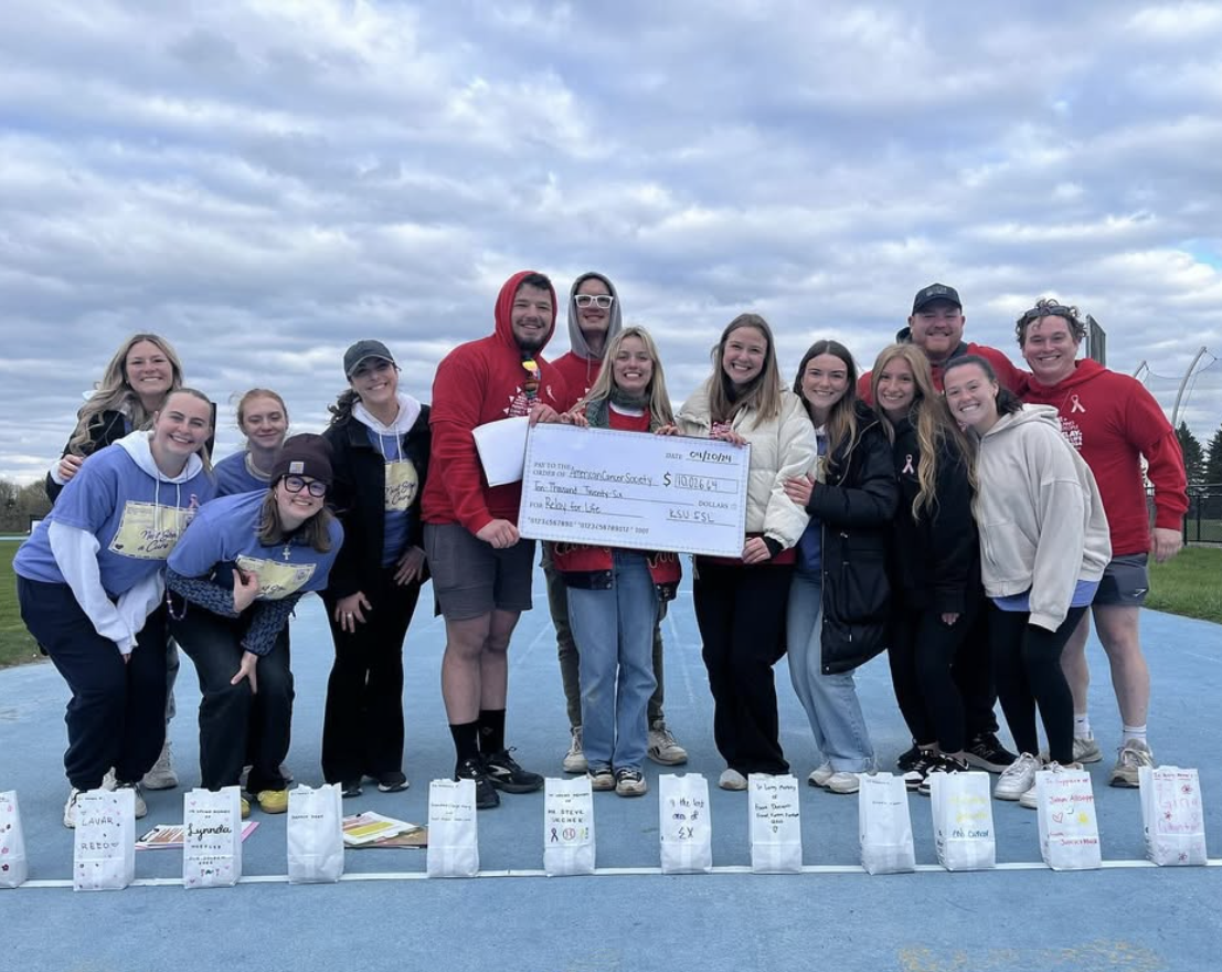
{"label": "black leggings of the woman in the beige hoodie", "polygon": [[1039,752],[1035,707],[1040,707],[1048,758],[1062,765],[1073,762],[1073,693],[1061,670],[1061,653],[1086,608],[1070,608],[1056,631],[1029,624],[1025,611],[989,608],[997,696],[1019,752]]}

